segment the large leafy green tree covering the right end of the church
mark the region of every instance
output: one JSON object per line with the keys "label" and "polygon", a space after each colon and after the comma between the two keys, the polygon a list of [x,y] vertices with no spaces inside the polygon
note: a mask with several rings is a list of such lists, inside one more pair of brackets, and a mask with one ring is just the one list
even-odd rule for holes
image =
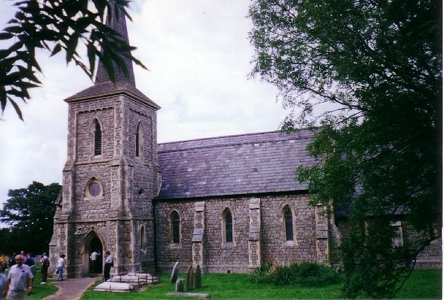
{"label": "large leafy green tree covering the right end of the church", "polygon": [[[321,164],[298,168],[311,204],[349,215],[340,254],[348,297],[393,297],[441,237],[441,1],[254,0],[253,76],[319,127]],[[298,112],[298,109],[299,112]],[[393,247],[404,215],[409,242]],[[415,236],[415,238],[413,238]],[[413,262],[413,263],[412,263]]]}

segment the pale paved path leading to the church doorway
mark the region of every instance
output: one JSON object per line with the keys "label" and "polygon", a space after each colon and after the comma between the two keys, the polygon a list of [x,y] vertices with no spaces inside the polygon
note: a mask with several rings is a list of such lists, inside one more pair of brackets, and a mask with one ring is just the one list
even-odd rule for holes
{"label": "pale paved path leading to the church doorway", "polygon": [[82,297],[83,292],[93,285],[96,280],[99,280],[99,277],[73,278],[65,279],[64,281],[53,281],[49,284],[56,285],[58,287],[58,291],[56,294],[52,294],[43,300],[78,300],[80,297]]}

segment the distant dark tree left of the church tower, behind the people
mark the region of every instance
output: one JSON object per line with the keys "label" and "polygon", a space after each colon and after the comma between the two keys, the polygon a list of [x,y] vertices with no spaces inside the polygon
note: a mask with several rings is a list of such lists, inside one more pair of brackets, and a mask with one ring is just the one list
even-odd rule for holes
{"label": "distant dark tree left of the church tower, behind the people", "polygon": [[45,186],[33,182],[28,188],[8,191],[10,198],[0,211],[1,222],[10,225],[7,253],[24,250],[41,254],[49,251],[56,200],[61,189],[60,184]]}

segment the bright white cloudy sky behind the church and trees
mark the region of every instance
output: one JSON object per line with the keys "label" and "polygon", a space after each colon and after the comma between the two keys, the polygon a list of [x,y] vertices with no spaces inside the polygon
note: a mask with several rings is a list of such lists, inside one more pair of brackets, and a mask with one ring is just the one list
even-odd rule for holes
{"label": "bright white cloudy sky behind the church and trees", "polygon": [[[10,0],[0,0],[2,28],[12,17]],[[248,79],[253,48],[249,0],[135,0],[128,22],[136,58],[137,88],[162,109],[158,142],[278,130],[286,112],[276,90]],[[1,46],[1,45],[0,45]],[[1,48],[1,47],[0,47]],[[85,73],[62,55],[39,55],[43,87],[21,105],[24,122],[8,105],[0,121],[0,205],[8,190],[34,180],[61,182],[67,157],[67,103],[89,87]]]}

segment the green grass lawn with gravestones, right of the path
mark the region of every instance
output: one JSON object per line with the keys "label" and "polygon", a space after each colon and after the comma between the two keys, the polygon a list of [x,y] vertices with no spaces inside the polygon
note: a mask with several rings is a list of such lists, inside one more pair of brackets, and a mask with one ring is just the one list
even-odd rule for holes
{"label": "green grass lawn with gravestones, right of the path", "polygon": [[[441,270],[416,270],[398,293],[397,299],[441,299]],[[95,292],[90,288],[81,300],[101,299],[187,299],[167,296],[175,286],[169,283],[169,274],[158,276],[160,285],[150,286],[143,292]],[[179,278],[186,278],[180,274]],[[101,283],[97,281],[96,284]],[[193,292],[211,294],[210,299],[344,299],[341,284],[322,288],[300,288],[273,284],[250,283],[246,274],[203,274],[202,288]]]}

